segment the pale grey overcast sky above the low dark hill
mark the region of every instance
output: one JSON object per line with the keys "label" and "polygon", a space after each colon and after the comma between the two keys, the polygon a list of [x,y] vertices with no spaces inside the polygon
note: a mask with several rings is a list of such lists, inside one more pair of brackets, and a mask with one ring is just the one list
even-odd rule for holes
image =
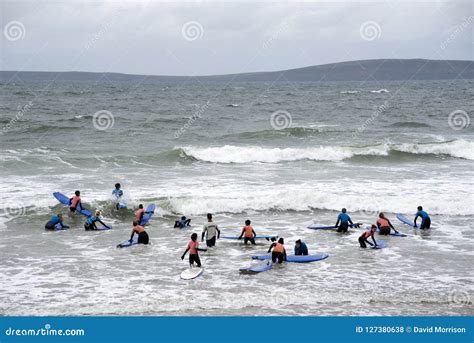
{"label": "pale grey overcast sky above the low dark hill", "polygon": [[470,1],[0,3],[1,70],[207,75],[473,59]]}

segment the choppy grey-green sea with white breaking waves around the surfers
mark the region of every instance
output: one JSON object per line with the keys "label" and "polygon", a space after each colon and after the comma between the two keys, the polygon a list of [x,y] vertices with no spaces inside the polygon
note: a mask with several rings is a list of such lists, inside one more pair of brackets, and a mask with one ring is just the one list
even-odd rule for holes
{"label": "choppy grey-green sea with white breaking waves around the surfers", "polygon": [[[0,314],[472,315],[474,81],[0,84]],[[450,115],[451,114],[451,115]],[[120,182],[130,210],[113,208]],[[113,225],[85,232],[52,192],[80,189]],[[149,246],[117,249],[133,208],[158,206]],[[433,229],[395,218],[422,205]],[[346,207],[408,237],[363,250],[314,231]],[[45,232],[58,211],[71,229]],[[239,268],[268,242],[219,240],[204,274],[180,256],[212,212],[223,235],[303,239],[315,263]],[[173,229],[182,214],[193,227]]]}

